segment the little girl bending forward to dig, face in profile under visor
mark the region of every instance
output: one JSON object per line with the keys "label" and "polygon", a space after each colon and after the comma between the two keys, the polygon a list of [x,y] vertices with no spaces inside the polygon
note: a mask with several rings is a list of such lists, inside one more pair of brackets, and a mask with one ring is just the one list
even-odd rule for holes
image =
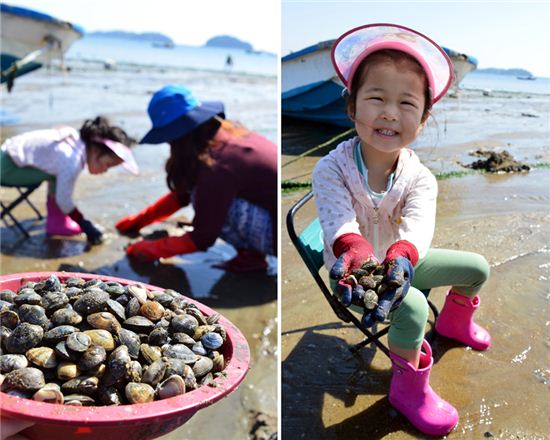
{"label": "little girl bending forward to dig, face in profile under visor", "polygon": [[99,244],[101,230],[84,218],[73,201],[76,179],[86,165],[91,174],[120,164],[137,174],[128,148],[133,144],[134,139],[102,116],[86,120],[80,133],[65,126],[31,131],[2,144],[0,182],[31,186],[47,180],[46,232],[65,236],[84,232],[90,243]]}

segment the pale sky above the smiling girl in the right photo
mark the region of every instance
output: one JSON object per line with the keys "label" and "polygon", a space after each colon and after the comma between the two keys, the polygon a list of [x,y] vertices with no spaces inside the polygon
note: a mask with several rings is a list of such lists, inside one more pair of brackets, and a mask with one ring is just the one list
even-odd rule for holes
{"label": "pale sky above the smiling girl in the right photo", "polygon": [[282,3],[282,55],[368,23],[413,28],[477,58],[478,68],[523,68],[550,77],[550,0],[295,1]]}

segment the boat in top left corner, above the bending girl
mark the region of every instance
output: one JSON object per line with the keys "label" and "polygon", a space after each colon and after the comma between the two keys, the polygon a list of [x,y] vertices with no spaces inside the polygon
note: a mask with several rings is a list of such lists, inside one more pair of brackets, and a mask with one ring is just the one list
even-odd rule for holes
{"label": "boat in top left corner, above the bending girl", "polygon": [[8,91],[15,78],[42,67],[43,55],[63,57],[71,44],[84,35],[80,26],[3,3],[0,20],[1,83],[7,83]]}

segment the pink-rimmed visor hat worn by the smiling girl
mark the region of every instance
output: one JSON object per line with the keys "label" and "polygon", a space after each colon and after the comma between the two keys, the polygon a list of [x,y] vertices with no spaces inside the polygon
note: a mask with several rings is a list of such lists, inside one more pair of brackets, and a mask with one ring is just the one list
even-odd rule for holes
{"label": "pink-rimmed visor hat worn by the smiling girl", "polygon": [[400,50],[420,63],[428,78],[432,104],[451,86],[453,64],[434,41],[404,26],[376,23],[346,32],[332,46],[332,65],[346,88],[349,89],[361,61],[382,49]]}

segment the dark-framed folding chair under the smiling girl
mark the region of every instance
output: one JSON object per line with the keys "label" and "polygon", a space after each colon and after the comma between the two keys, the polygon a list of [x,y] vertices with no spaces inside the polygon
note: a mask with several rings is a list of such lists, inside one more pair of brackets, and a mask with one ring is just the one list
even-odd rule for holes
{"label": "dark-framed folding chair under the smiling girl", "polygon": [[[319,222],[319,219],[315,218],[315,220],[313,220],[306,228],[303,229],[300,235],[296,233],[296,229],[294,227],[294,216],[296,215],[298,210],[302,208],[312,198],[313,193],[310,191],[304,197],[298,200],[294,204],[294,206],[288,211],[286,217],[288,235],[290,236],[292,243],[298,250],[298,253],[302,257],[302,260],[304,260],[304,263],[306,264],[311,275],[317,282],[317,285],[321,289],[321,292],[323,292],[323,295],[332,307],[332,310],[334,311],[336,316],[338,316],[338,318],[340,318],[344,322],[352,322],[366,336],[363,341],[351,346],[350,351],[352,353],[355,353],[364,346],[370,343],[374,343],[378,348],[380,348],[380,350],[384,352],[386,356],[389,357],[390,351],[388,347],[380,341],[380,338],[388,333],[390,329],[389,325],[384,327],[380,331],[375,331],[374,333],[368,328],[365,328],[361,324],[361,321],[357,318],[357,316],[355,316],[347,307],[342,305],[342,303],[332,293],[332,291],[329,289],[329,287],[319,274],[319,270],[324,264],[322,238],[323,231],[321,229],[321,223]],[[424,295],[426,295],[427,297],[429,294],[429,290],[423,291],[422,293],[424,293]],[[430,309],[434,314],[434,319],[437,319],[439,311],[430,300],[428,300],[428,305],[430,306]]]}

